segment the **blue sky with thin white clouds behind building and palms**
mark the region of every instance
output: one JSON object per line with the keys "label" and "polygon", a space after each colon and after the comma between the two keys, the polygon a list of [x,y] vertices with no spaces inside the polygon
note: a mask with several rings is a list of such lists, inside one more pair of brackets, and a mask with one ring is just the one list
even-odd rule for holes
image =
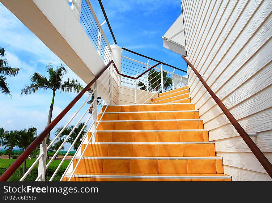
{"label": "blue sky with thin white clouds behind building and palms", "polygon": [[[165,49],[162,41],[164,33],[181,14],[180,0],[104,0],[102,2],[117,45],[186,69],[181,56]],[[91,3],[102,23],[104,16],[98,1],[91,0]],[[19,130],[35,126],[40,133],[47,123],[52,92],[39,91],[34,95],[20,96],[20,91],[24,85],[30,84],[29,77],[34,72],[44,75],[48,63],[58,66],[61,60],[2,3],[0,3],[0,19],[0,46],[9,45],[5,48],[6,58],[10,60],[12,67],[26,69],[20,70],[17,77],[7,77],[12,98],[0,94],[0,127],[6,130]],[[103,29],[109,43],[113,44],[106,24],[103,25]],[[68,74],[64,79],[76,78],[83,86],[86,85],[69,67],[67,69]],[[75,93],[57,92],[53,118],[74,99],[75,95]],[[81,101],[86,98],[87,95],[84,95]],[[77,104],[59,125],[64,125],[79,106],[80,104]]]}

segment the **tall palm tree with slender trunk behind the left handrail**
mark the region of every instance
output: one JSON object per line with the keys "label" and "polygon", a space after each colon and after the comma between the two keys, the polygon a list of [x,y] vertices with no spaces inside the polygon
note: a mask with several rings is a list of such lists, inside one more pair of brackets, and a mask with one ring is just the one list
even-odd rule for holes
{"label": "tall palm tree with slender trunk behind the left handrail", "polygon": [[[61,64],[57,66],[55,69],[52,64],[48,64],[46,66],[48,76],[42,76],[39,73],[34,73],[30,80],[32,84],[26,85],[21,90],[22,95],[31,95],[36,93],[38,90],[51,90],[53,92],[52,102],[49,108],[47,126],[51,123],[52,120],[52,112],[54,106],[54,99],[56,91],[61,92],[76,92],[79,93],[83,90],[83,87],[79,84],[78,80],[75,79],[67,79],[62,82],[63,76],[67,73],[67,70]],[[47,136],[47,142],[49,141],[50,134]]]}

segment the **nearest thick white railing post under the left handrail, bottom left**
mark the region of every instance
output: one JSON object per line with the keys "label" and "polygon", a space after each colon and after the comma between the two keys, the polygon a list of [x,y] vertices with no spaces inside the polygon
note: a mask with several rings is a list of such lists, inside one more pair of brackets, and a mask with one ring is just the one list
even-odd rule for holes
{"label": "nearest thick white railing post under the left handrail, bottom left", "polygon": [[47,158],[47,144],[46,137],[40,145],[40,155],[43,154],[42,158],[39,160],[38,164],[38,176],[40,177],[38,181],[45,181],[45,171],[46,171],[46,158]]}

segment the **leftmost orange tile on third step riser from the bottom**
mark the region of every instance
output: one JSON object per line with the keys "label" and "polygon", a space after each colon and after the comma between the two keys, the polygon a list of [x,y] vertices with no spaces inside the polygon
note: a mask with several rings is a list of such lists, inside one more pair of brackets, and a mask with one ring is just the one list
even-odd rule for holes
{"label": "leftmost orange tile on third step riser from the bottom", "polygon": [[[81,152],[86,144],[82,144]],[[108,156],[108,144],[89,144],[84,153],[84,156]]]}

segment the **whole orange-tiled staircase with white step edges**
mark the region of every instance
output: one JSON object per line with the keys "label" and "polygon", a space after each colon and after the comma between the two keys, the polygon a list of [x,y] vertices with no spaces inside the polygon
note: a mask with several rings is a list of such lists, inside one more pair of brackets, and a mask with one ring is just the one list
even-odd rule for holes
{"label": "whole orange-tiled staircase with white step edges", "polygon": [[186,86],[151,104],[108,106],[71,181],[231,181],[190,102]]}

